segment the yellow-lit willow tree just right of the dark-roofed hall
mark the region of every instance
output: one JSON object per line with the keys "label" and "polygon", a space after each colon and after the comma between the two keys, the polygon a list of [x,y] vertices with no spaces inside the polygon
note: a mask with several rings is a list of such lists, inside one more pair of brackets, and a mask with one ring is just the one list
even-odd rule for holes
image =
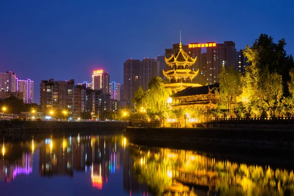
{"label": "yellow-lit willow tree just right of the dark-roofed hall", "polygon": [[230,67],[228,70],[222,67],[221,73],[219,75],[220,79],[220,102],[221,109],[228,111],[229,117],[231,116],[231,106],[236,104],[238,97],[242,93],[241,85],[241,73]]}

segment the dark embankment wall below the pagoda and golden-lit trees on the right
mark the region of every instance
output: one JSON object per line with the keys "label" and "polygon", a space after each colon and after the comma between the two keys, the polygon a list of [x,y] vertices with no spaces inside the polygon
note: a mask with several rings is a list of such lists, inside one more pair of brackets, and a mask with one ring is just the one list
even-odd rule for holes
{"label": "dark embankment wall below the pagoda and golden-lit trees on the right", "polygon": [[282,147],[294,150],[294,130],[127,127],[131,143],[166,147],[247,146]]}

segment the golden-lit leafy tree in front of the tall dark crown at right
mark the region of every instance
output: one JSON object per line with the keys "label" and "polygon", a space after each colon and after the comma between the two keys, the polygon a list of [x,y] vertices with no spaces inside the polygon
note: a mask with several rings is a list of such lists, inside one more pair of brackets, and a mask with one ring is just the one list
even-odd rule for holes
{"label": "golden-lit leafy tree in front of the tall dark crown at right", "polygon": [[[256,42],[254,44],[258,45]],[[282,75],[278,74],[281,71],[275,64],[269,64],[270,62],[263,59],[267,57],[266,53],[256,49],[255,45],[252,48],[246,46],[244,51],[252,65],[246,69],[243,78],[242,100],[253,103],[261,111],[275,117],[282,106],[283,80]]]}

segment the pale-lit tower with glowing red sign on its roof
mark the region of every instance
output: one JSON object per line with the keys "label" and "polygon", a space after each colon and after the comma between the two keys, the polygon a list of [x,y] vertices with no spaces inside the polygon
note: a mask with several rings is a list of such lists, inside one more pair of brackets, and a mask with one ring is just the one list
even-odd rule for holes
{"label": "pale-lit tower with glowing red sign on its roof", "polygon": [[103,70],[96,70],[92,75],[93,90],[102,90],[103,94],[109,93],[109,74]]}

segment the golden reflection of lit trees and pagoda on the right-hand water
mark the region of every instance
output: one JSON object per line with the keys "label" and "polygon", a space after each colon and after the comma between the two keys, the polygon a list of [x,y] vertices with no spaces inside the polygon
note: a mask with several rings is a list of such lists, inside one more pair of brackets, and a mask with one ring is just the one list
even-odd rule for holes
{"label": "golden reflection of lit trees and pagoda on the right-hand water", "polygon": [[258,165],[217,160],[190,150],[130,146],[134,171],[154,195],[287,195],[294,173]]}

